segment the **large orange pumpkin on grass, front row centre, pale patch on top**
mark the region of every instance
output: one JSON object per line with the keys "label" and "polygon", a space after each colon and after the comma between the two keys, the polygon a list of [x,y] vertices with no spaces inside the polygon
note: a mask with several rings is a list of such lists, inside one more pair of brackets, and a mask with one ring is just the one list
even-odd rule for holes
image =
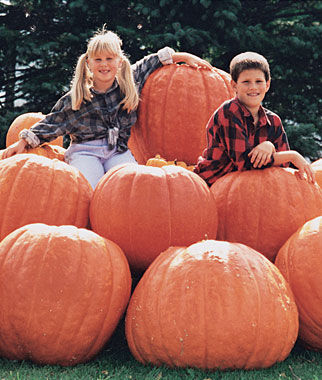
{"label": "large orange pumpkin on grass, front row centre, pale patch on top", "polygon": [[144,364],[269,367],[288,356],[297,333],[293,295],[274,264],[215,240],[161,253],[126,314],[129,348]]}

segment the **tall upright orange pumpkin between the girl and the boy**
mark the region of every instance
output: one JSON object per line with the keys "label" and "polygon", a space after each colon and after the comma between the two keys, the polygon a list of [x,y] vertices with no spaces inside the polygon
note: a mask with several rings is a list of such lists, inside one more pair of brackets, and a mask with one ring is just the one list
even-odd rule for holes
{"label": "tall upright orange pumpkin between the girl and the boy", "polygon": [[195,164],[207,144],[206,125],[214,110],[234,96],[230,75],[214,68],[166,65],[144,84],[129,147],[140,164],[160,154]]}

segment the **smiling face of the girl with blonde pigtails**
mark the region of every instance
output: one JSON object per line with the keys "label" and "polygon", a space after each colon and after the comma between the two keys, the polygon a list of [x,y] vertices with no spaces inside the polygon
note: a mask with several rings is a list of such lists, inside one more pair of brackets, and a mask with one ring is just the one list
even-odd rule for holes
{"label": "smiling face of the girl with blonde pigtails", "polygon": [[99,92],[107,91],[113,84],[122,59],[111,53],[96,53],[87,59],[88,68],[93,74],[94,89]]}

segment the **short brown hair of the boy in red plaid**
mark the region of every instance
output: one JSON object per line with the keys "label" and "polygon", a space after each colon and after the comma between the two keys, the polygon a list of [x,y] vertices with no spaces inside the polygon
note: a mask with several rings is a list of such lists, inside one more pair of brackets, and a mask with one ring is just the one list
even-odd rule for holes
{"label": "short brown hair of the boy in red plaid", "polygon": [[244,70],[258,69],[265,75],[266,82],[271,78],[267,59],[258,53],[247,51],[236,55],[230,62],[230,75],[237,82],[240,73]]}

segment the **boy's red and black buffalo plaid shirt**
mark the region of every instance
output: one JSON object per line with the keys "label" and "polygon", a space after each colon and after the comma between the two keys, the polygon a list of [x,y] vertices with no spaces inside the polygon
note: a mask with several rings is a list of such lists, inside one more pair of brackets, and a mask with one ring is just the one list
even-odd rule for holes
{"label": "boy's red and black buffalo plaid shirt", "polygon": [[[208,122],[207,148],[198,159],[195,173],[211,186],[226,173],[252,169],[248,153],[267,140],[274,144],[276,151],[290,149],[279,116],[260,106],[255,126],[248,109],[237,98],[230,99],[214,112]],[[265,167],[272,164],[273,159]]]}

